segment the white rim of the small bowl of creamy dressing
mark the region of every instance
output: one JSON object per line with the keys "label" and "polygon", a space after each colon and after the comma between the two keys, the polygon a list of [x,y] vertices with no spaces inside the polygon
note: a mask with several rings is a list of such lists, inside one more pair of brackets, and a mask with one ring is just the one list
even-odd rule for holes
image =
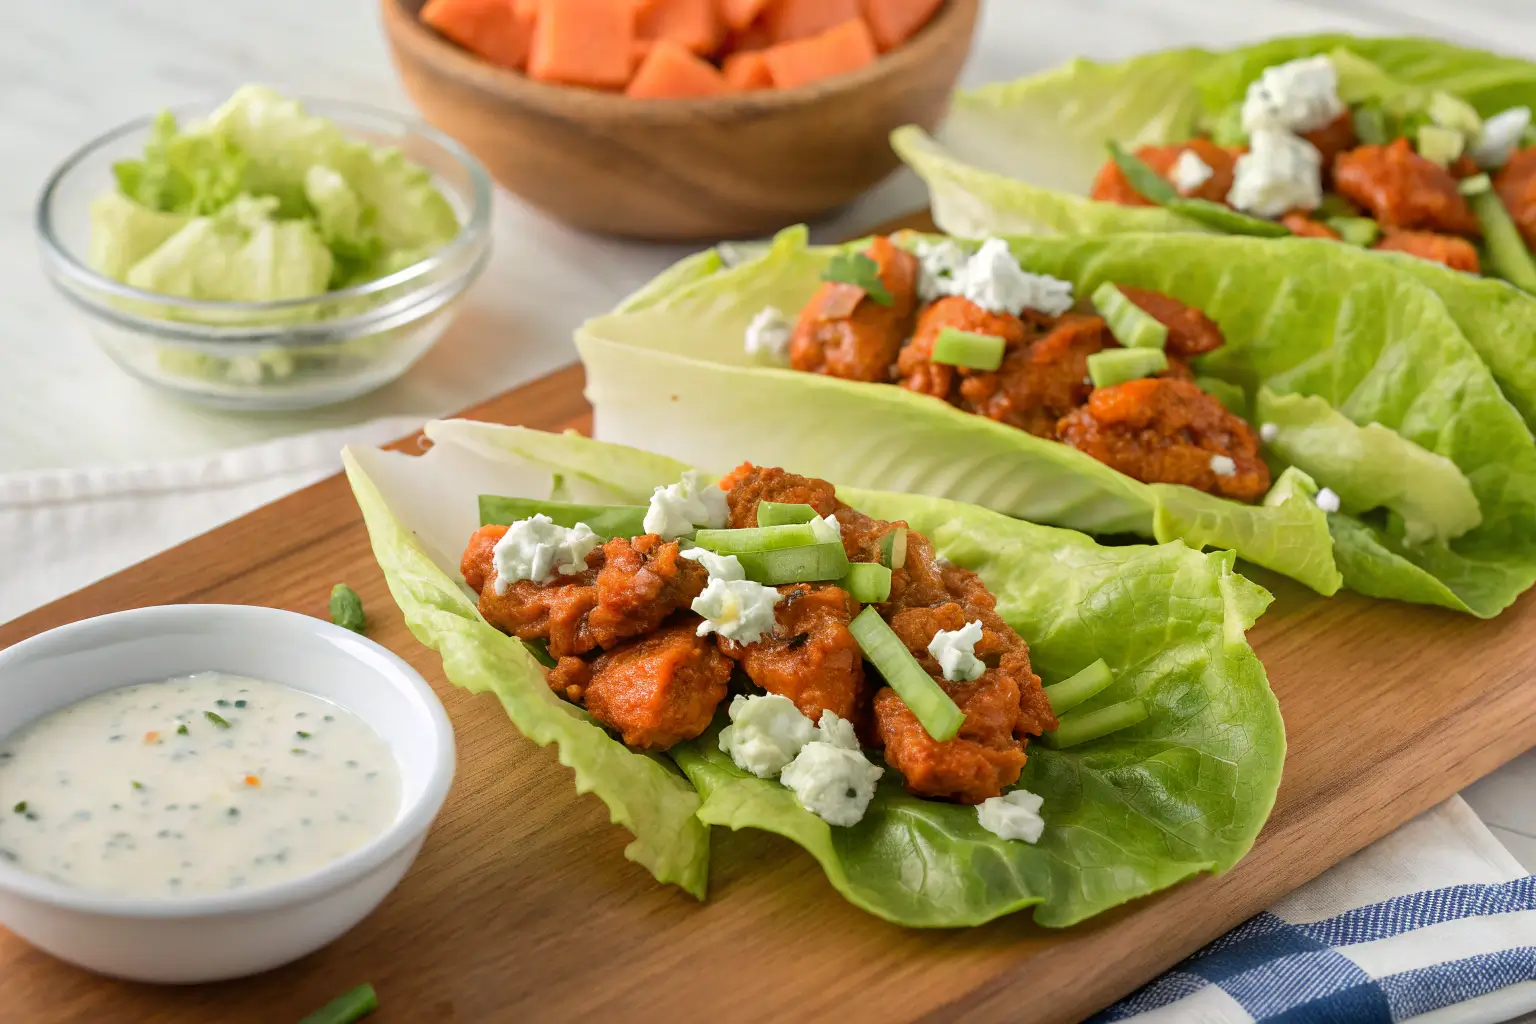
{"label": "white rim of the small bowl of creamy dressing", "polygon": [[[31,654],[35,648],[63,645],[58,652],[75,649],[71,640],[77,634],[89,636],[97,631],[131,625],[138,628],[144,636],[154,636],[166,623],[186,622],[189,619],[201,620],[200,625],[214,631],[238,629],[241,625],[258,620],[263,625],[275,623],[273,628],[276,629],[300,629],[318,634],[330,640],[336,648],[347,651],[350,657],[364,662],[367,671],[379,676],[386,685],[398,691],[402,689],[407,697],[413,697],[412,703],[415,705],[416,715],[436,743],[436,760],[430,766],[421,794],[410,804],[401,808],[395,821],[387,829],[350,854],[304,875],[243,892],[217,892],[184,898],[117,897],[49,881],[41,875],[34,875],[6,863],[0,863],[0,892],[78,913],[127,920],[212,918],[278,910],[295,903],[318,900],[372,875],[432,827],[433,820],[447,800],[456,769],[453,726],[449,722],[447,711],[442,708],[442,702],[438,700],[438,695],[427,680],[422,679],[421,672],[413,669],[398,654],[375,640],[321,619],[258,605],[155,605],[151,608],[115,611],[55,626],[0,651],[0,680],[3,680],[9,662]],[[367,652],[367,659],[361,657],[362,652]],[[126,686],[129,683],[121,685]],[[106,686],[97,692],[106,692],[114,688]],[[353,711],[353,714],[369,722],[366,711]],[[372,726],[372,722],[369,725]]]}

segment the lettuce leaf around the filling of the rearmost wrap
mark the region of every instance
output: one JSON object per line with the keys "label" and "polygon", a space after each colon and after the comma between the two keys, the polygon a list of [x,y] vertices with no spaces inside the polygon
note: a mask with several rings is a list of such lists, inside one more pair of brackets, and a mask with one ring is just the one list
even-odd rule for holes
{"label": "lettuce leaf around the filling of the rearmost wrap", "polygon": [[[1422,38],[1307,35],[1226,52],[1163,51],[1111,64],[1074,60],[1018,81],[957,92],[938,140],[908,126],[891,143],[925,178],[934,218],[952,235],[1209,232],[1163,207],[1089,200],[1106,143],[1187,140],[1241,101],[1264,68],[1339,48],[1375,63],[1395,83],[1452,92],[1484,115],[1536,107],[1531,61]],[[1510,401],[1536,424],[1536,296],[1401,253],[1352,250],[1338,258],[1339,273],[1370,259],[1385,259],[1433,287]]]}

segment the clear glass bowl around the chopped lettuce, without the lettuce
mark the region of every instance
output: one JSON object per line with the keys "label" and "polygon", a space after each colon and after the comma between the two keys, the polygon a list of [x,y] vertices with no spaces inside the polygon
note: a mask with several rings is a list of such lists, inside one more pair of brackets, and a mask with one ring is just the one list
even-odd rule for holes
{"label": "clear glass bowl around the chopped lettuce, without the lettuce", "polygon": [[[52,173],[37,203],[49,279],[91,335],[131,375],[204,405],[296,410],[343,402],[401,376],[452,322],[490,259],[492,183],[447,135],[412,118],[332,100],[300,101],[347,135],[393,146],[425,167],[453,206],[459,233],[421,263],[326,295],[272,302],[183,299],[92,270],[91,203],[115,187],[112,164],[143,155],[154,117],[112,129]],[[180,123],[215,104],[177,107]]]}

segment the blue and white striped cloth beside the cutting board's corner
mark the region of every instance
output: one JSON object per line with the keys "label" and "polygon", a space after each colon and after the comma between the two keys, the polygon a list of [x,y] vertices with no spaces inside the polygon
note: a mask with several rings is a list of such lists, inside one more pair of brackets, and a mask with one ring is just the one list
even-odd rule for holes
{"label": "blue and white striped cloth beside the cutting board's corner", "polygon": [[1536,877],[1455,797],[1092,1022],[1495,1024],[1533,1010]]}

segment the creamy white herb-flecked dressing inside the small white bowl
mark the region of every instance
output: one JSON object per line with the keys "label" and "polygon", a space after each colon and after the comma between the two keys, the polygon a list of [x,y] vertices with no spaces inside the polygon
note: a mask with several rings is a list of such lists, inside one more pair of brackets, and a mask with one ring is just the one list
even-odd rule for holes
{"label": "creamy white herb-flecked dressing inside the small white bowl", "polygon": [[304,875],[398,809],[395,758],[361,718],[221,672],[109,689],[0,743],[0,860],[114,895]]}

